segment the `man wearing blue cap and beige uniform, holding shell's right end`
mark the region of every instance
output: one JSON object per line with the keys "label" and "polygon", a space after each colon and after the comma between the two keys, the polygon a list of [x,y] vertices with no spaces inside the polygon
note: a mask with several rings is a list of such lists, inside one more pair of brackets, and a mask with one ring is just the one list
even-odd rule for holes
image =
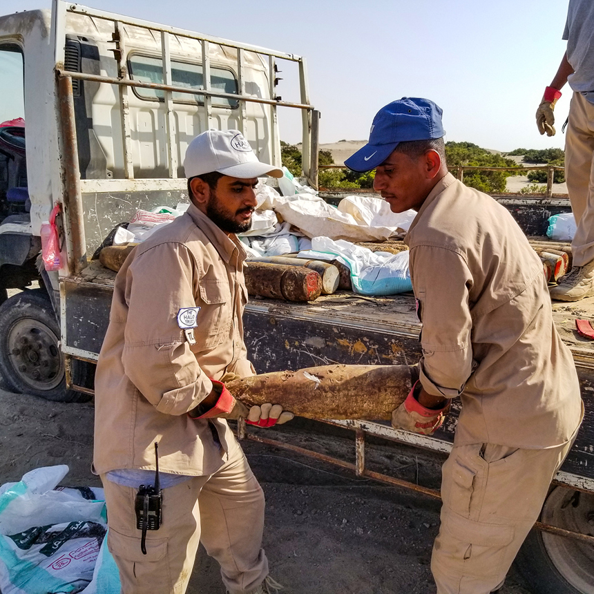
{"label": "man wearing blue cap and beige uniform, holding shell's right end", "polygon": [[417,211],[405,242],[423,355],[392,424],[432,434],[460,397],[431,569],[437,594],[488,594],[539,515],[582,402],[542,263],[504,207],[448,173],[443,135],[436,104],[404,97],[345,164],[375,169],[392,211]]}

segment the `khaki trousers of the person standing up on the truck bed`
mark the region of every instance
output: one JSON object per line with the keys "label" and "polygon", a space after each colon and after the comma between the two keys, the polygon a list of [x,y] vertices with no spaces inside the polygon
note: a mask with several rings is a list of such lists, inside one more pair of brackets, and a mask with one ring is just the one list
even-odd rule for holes
{"label": "khaki trousers of the person standing up on the truck bed", "polygon": [[594,260],[594,104],[573,93],[565,140],[565,172],[577,231],[573,265]]}

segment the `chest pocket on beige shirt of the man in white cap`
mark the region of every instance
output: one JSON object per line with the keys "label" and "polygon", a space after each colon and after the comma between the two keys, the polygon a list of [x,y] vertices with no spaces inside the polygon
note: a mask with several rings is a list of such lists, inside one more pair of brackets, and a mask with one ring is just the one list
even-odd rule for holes
{"label": "chest pocket on beige shirt of the man in white cap", "polygon": [[194,330],[196,347],[211,348],[220,345],[229,336],[233,316],[231,291],[227,280],[201,280],[198,327]]}

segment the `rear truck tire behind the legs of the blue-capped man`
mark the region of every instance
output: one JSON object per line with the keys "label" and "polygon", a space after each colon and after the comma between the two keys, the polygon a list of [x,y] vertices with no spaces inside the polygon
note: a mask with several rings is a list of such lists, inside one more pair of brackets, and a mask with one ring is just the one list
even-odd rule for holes
{"label": "rear truck tire behind the legs of the blue-capped man", "polygon": [[[594,534],[594,494],[556,487],[541,521],[586,535]],[[531,530],[515,565],[538,594],[594,594],[594,546]]]}

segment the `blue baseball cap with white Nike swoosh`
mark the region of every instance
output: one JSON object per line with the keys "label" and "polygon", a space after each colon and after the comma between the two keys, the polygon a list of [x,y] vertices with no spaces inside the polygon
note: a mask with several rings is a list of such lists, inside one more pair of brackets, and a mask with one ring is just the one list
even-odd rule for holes
{"label": "blue baseball cap with white Nike swoosh", "polygon": [[430,99],[403,97],[376,113],[370,140],[345,160],[353,171],[363,173],[382,164],[400,142],[429,140],[446,134],[441,124],[441,107]]}

